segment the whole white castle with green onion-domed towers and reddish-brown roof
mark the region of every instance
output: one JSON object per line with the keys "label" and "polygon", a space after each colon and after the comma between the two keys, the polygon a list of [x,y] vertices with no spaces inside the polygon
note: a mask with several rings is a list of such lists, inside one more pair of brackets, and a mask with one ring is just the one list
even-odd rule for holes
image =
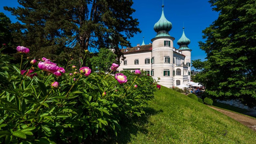
{"label": "whole white castle with green onion-domed towers and reddish-brown roof", "polygon": [[141,45],[122,49],[125,59],[120,59],[118,71],[143,69],[154,79],[160,78],[159,84],[166,87],[187,84],[190,81],[191,49],[190,40],[185,36],[184,27],[181,38],[178,40],[179,49],[173,47],[174,37],[169,35],[172,23],[163,13],[154,25],[157,35],[151,39],[152,44],[145,45],[144,37]]}

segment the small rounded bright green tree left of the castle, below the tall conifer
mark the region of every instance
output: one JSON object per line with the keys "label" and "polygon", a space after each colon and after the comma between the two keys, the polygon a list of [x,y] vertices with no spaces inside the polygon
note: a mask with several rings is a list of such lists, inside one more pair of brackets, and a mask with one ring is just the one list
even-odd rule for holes
{"label": "small rounded bright green tree left of the castle, below the tall conifer", "polygon": [[110,72],[112,63],[115,63],[117,59],[117,55],[114,54],[110,49],[100,48],[97,56],[94,56],[90,59],[90,63],[92,65],[92,70],[96,70],[96,66],[99,70]]}

